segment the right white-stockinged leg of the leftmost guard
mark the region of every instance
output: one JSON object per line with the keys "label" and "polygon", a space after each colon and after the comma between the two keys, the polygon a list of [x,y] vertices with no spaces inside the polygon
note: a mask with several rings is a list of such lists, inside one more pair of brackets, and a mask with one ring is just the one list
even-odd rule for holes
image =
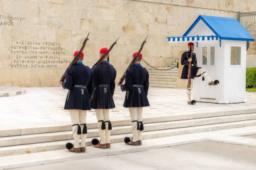
{"label": "right white-stockinged leg of the leftmost guard", "polygon": [[86,148],[85,148],[86,147],[86,137],[87,137],[86,115],[87,115],[86,110],[79,111],[80,126],[81,126],[81,130],[82,130],[82,134],[81,134],[82,152],[86,151]]}

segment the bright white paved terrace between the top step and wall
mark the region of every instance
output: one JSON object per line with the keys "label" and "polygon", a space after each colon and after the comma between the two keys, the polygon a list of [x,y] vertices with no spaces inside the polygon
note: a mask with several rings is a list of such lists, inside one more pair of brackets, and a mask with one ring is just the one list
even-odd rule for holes
{"label": "bright white paved terrace between the top step and wall", "polygon": [[[69,113],[63,110],[66,95],[67,91],[61,87],[43,87],[26,88],[23,95],[0,97],[0,130],[70,124]],[[123,108],[124,97],[125,93],[117,87],[114,95],[117,108],[111,110],[111,120],[129,119],[127,108]],[[145,108],[144,118],[256,108],[255,93],[246,93],[245,103],[187,105],[185,89],[151,87],[148,98],[150,107]],[[88,112],[87,118],[88,123],[96,122],[94,111]]]}

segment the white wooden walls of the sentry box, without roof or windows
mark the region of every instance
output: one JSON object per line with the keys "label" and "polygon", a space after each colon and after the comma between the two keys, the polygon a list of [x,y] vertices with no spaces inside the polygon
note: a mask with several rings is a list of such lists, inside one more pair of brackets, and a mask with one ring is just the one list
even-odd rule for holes
{"label": "white wooden walls of the sentry box, without roof or windows", "polygon": [[[215,35],[205,23],[199,21],[188,36]],[[241,47],[241,65],[230,64],[231,46]],[[203,65],[203,47],[207,48],[207,64]],[[214,47],[214,65],[211,65],[211,47]],[[220,42],[198,42],[195,44],[197,66],[202,67],[212,80],[218,79],[219,85],[209,86],[202,77],[193,81],[193,97],[196,101],[212,103],[238,103],[245,99],[246,81],[246,42],[222,40]]]}

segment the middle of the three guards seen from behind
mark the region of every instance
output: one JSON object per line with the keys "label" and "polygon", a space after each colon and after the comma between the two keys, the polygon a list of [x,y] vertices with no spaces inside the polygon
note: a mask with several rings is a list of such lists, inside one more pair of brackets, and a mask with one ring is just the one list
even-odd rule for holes
{"label": "middle of the three guards seen from behind", "polygon": [[[100,50],[100,57],[108,52],[108,48]],[[109,54],[108,54],[109,55]],[[110,130],[112,125],[109,120],[109,110],[115,108],[113,95],[115,91],[115,79],[117,71],[108,62],[108,55],[100,65],[92,68],[94,92],[91,99],[92,109],[96,112],[100,143],[96,148],[110,148]]]}

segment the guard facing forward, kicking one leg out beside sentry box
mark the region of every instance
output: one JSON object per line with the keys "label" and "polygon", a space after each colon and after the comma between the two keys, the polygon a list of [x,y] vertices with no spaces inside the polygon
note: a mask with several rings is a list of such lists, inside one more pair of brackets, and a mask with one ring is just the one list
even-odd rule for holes
{"label": "guard facing forward, kicking one leg out beside sentry box", "polygon": [[181,56],[181,65],[184,65],[181,79],[185,79],[187,84],[187,103],[189,105],[194,105],[196,101],[191,100],[191,89],[195,77],[203,76],[203,79],[208,82],[208,85],[218,85],[219,81],[212,81],[210,76],[201,67],[197,67],[197,57],[196,54],[193,53],[194,43],[189,42],[188,47],[189,50],[184,52]]}

